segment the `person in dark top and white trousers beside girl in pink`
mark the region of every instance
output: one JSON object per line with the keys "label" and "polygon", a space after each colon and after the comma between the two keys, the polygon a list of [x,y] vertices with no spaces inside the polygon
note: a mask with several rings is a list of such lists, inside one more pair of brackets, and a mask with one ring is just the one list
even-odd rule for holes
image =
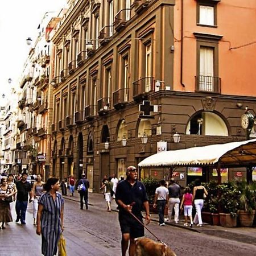
{"label": "person in dark top and white trousers beside girl in pink", "polygon": [[175,183],[172,178],[170,181],[169,190],[169,201],[168,201],[168,217],[169,221],[172,218],[172,210],[174,209],[174,221],[177,224],[179,221],[179,204],[180,204],[180,186]]}

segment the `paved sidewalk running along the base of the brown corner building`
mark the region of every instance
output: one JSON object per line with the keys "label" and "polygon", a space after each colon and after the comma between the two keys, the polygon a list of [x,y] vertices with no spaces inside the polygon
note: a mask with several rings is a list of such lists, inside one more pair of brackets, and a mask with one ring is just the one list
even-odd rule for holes
{"label": "paved sidewalk running along the base of the brown corner building", "polygon": [[[67,200],[73,200],[73,201],[80,201],[79,193],[75,191],[75,195],[73,197],[71,196],[64,196]],[[92,207],[101,207],[102,209],[107,208],[106,201],[104,199],[104,195],[102,193],[89,193],[88,195],[88,203]],[[112,200],[111,203],[112,211],[118,212],[117,204],[114,200]],[[181,216],[180,216],[181,217]],[[151,214],[151,220],[158,222],[158,214]],[[202,227],[198,227],[193,225],[193,228],[189,228],[187,226],[184,226],[184,220],[181,219],[178,224],[175,224],[175,222],[166,222],[166,225],[176,226],[178,228],[183,228],[190,230],[192,232],[198,232],[198,233],[205,233],[210,234],[212,236],[219,236],[219,237],[227,237],[232,238],[232,236],[240,236],[241,240],[249,240],[254,239],[254,244],[256,245],[256,230],[254,228],[245,228],[245,227],[237,227],[237,228],[225,228],[222,226],[212,226],[207,223],[204,223]]]}

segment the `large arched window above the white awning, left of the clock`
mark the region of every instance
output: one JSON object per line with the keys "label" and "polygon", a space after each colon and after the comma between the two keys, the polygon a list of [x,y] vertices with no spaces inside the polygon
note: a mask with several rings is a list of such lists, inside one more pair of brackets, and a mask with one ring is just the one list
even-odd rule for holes
{"label": "large arched window above the white awning, left of the clock", "polygon": [[200,112],[189,121],[186,134],[228,136],[228,127],[223,119],[213,112]]}

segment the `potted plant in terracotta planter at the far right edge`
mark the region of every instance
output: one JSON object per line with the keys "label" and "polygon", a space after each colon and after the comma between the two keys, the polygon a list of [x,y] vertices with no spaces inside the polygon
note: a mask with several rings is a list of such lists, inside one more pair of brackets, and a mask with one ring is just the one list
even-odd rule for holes
{"label": "potted plant in terracotta planter at the far right edge", "polygon": [[235,187],[240,191],[238,196],[238,218],[241,226],[253,226],[256,208],[256,183],[247,184],[245,180],[237,181]]}

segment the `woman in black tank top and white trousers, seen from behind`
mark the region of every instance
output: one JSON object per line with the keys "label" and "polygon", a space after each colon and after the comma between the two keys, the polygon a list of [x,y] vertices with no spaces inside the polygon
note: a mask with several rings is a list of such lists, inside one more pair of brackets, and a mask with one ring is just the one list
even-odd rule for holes
{"label": "woman in black tank top and white trousers, seen from behind", "polygon": [[204,206],[204,195],[207,196],[208,192],[204,186],[201,185],[201,181],[199,179],[195,180],[195,187],[193,188],[193,201],[196,208],[196,215],[194,218],[194,223],[197,226],[203,226],[201,210]]}

